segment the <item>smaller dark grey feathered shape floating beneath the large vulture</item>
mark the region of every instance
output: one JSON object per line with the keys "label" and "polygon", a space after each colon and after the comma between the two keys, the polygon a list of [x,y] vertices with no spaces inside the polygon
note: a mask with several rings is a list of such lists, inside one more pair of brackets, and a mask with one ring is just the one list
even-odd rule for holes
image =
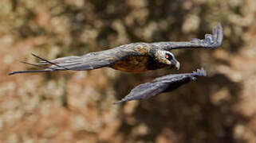
{"label": "smaller dark grey feathered shape floating beneath the large vulture", "polygon": [[115,104],[126,102],[129,100],[140,100],[148,99],[154,95],[158,95],[162,92],[173,91],[176,88],[195,81],[197,76],[206,76],[207,72],[201,68],[197,69],[196,72],[186,73],[186,74],[175,74],[175,75],[165,75],[160,78],[153,80],[152,83],[144,83],[132,89],[132,91]]}

